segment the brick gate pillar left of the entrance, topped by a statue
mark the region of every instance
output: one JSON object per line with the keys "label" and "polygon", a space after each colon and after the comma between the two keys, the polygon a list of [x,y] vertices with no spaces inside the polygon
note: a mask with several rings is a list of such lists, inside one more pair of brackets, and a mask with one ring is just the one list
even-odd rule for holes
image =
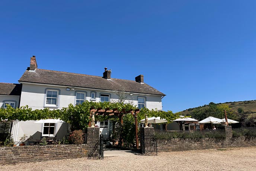
{"label": "brick gate pillar left of the entrance, topped by a statue", "polygon": [[100,128],[99,127],[88,127],[87,128],[87,146],[93,156],[99,154],[99,140],[100,140]]}

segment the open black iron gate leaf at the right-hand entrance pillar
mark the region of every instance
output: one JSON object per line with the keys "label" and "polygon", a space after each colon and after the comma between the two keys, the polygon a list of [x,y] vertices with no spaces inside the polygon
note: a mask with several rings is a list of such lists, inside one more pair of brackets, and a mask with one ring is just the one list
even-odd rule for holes
{"label": "open black iron gate leaf at the right-hand entrance pillar", "polygon": [[157,141],[154,136],[143,137],[141,153],[146,155],[157,155]]}

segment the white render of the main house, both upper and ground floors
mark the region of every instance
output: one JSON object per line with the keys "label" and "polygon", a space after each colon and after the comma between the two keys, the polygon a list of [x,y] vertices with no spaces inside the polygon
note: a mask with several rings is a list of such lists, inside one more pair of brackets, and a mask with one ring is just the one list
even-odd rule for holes
{"label": "white render of the main house, both upper and ground floors", "polygon": [[[114,91],[107,91],[107,90],[95,90],[95,89],[88,89],[88,88],[80,88],[80,87],[68,87],[70,88],[70,91],[66,90],[66,86],[55,86],[55,85],[47,85],[47,84],[35,84],[35,83],[22,83],[22,93],[20,97],[20,106],[26,106],[31,107],[32,110],[35,109],[44,109],[46,107],[49,107],[45,104],[46,99],[46,90],[58,90],[58,104],[57,107],[49,107],[49,109],[61,109],[63,107],[68,107],[68,105],[71,103],[73,105],[76,104],[76,93],[82,92],[86,94],[86,97],[84,100],[88,101],[100,101],[100,94],[109,94],[110,95],[110,101],[115,102],[118,100],[118,96],[115,94]],[[91,99],[90,94],[92,92],[96,92],[96,98]],[[162,102],[161,102],[161,96],[157,95],[150,95],[150,94],[139,94],[139,93],[128,93],[128,99],[130,102],[132,102],[134,105],[138,106],[138,97],[145,98],[145,107],[148,109],[158,109],[162,110]],[[19,122],[15,121],[13,122],[13,137],[15,141],[19,141],[19,137],[21,137],[23,134],[32,135],[33,139],[40,139],[42,134],[42,124],[34,123],[35,121],[26,121],[26,122]],[[58,129],[62,124],[67,123],[58,123],[56,131],[58,132]],[[108,136],[109,132],[111,132],[113,127],[113,124],[111,122],[108,122],[108,128],[100,128],[100,133],[102,135]],[[33,129],[31,129],[33,128]],[[62,139],[63,136],[67,133],[67,129],[61,129],[61,131],[58,132],[57,140]],[[59,135],[60,134],[60,135]],[[33,141],[30,139],[30,141]]]}

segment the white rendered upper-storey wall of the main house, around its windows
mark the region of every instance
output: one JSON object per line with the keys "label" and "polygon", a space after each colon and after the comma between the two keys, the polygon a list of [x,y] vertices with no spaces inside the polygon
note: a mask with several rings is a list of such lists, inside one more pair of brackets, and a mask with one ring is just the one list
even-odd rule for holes
{"label": "white rendered upper-storey wall of the main house, around its windows", "polygon": [[[45,89],[59,89],[59,97],[58,97],[58,109],[63,107],[68,107],[68,104],[75,104],[76,101],[76,92],[86,92],[85,100],[88,101],[100,101],[100,94],[110,94],[111,101],[117,101],[118,96],[115,92],[111,91],[100,91],[100,90],[88,90],[83,88],[75,88],[74,90],[66,91],[66,87],[55,87],[55,86],[44,86],[44,85],[33,85],[33,84],[23,84],[22,85],[22,93],[20,97],[20,106],[28,105],[33,110],[34,109],[44,109],[45,108]],[[71,88],[70,88],[71,89]],[[90,94],[92,92],[96,93],[95,100],[91,100]],[[128,94],[129,101],[133,102],[134,105],[138,106],[138,97],[144,97],[146,100],[145,106],[148,109],[158,109],[162,110],[162,102],[161,96],[155,95],[145,95],[145,94],[137,94],[132,93],[132,96]],[[49,107],[50,108],[50,107]]]}

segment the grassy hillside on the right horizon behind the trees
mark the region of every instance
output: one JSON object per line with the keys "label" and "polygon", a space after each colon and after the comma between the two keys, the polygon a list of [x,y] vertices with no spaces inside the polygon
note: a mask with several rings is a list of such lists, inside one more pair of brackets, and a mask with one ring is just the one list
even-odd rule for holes
{"label": "grassy hillside on the right horizon behind the trees", "polygon": [[[218,104],[221,104],[221,103],[218,103]],[[244,110],[244,113],[256,113],[256,100],[226,102],[226,104],[228,104],[231,110],[234,110],[236,112],[237,112],[237,109],[241,107]],[[205,104],[204,106],[183,110],[181,112],[181,115],[184,115],[184,116],[189,115],[189,113],[193,112],[193,110],[197,108],[204,108],[204,107],[208,107],[208,104]]]}

